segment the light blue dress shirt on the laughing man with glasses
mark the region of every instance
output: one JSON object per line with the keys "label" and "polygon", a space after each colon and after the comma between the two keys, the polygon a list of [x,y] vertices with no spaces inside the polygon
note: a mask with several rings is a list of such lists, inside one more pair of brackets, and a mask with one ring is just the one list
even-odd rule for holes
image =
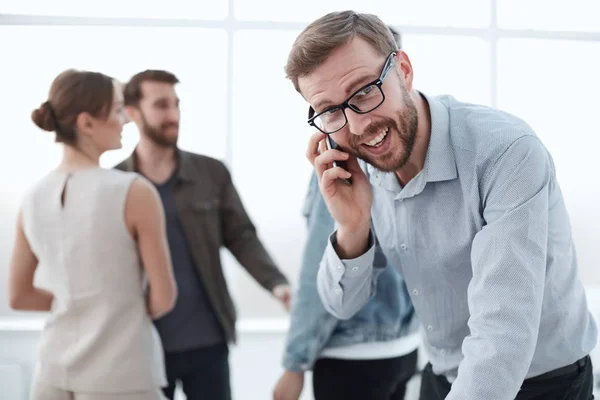
{"label": "light blue dress shirt on the laughing man with glasses", "polygon": [[[550,154],[522,120],[450,96],[428,97],[423,170],[405,187],[366,166],[369,250],[337,256],[317,283],[348,318],[373,296],[387,262],[400,268],[436,374],[451,400],[512,400],[524,379],[571,364],[596,344],[569,216]],[[373,234],[374,233],[374,234]]]}

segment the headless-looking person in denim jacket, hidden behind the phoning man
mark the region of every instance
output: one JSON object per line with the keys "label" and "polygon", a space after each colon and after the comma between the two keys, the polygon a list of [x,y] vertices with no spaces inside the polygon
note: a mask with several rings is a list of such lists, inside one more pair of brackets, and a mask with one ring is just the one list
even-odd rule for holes
{"label": "headless-looking person in denim jacket, hidden behind the phoning man", "polygon": [[350,319],[336,319],[323,308],[317,293],[317,271],[334,220],[314,174],[304,215],[308,237],[292,301],[283,357],[286,371],[277,383],[274,399],[298,400],[304,372],[310,369],[316,400],[404,399],[420,343],[418,321],[404,280],[388,265],[367,305]]}

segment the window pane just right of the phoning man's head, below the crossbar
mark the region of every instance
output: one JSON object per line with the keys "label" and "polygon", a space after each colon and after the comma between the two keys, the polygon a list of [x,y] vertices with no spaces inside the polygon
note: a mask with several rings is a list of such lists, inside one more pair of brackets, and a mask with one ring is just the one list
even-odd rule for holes
{"label": "window pane just right of the phoning man's head, below the crossbar", "polygon": [[414,87],[429,95],[450,94],[461,101],[490,104],[490,47],[461,36],[404,35],[414,69]]}

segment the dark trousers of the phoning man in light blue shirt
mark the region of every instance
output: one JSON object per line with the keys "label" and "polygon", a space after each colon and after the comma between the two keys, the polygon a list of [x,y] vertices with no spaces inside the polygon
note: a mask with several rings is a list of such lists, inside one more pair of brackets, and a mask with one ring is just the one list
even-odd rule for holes
{"label": "dark trousers of the phoning man in light blue shirt", "polygon": [[[544,374],[545,375],[545,374]],[[591,400],[594,398],[592,362],[586,357],[574,371],[544,378],[526,379],[515,400]],[[451,384],[444,376],[435,375],[427,364],[421,378],[420,400],[443,400]]]}

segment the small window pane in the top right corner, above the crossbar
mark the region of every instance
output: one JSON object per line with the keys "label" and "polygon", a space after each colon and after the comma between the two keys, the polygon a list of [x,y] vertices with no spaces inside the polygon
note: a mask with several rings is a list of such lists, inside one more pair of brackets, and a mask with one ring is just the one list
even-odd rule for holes
{"label": "small window pane in the top right corner, above the crossbar", "polygon": [[600,30],[598,0],[499,0],[502,28],[555,31]]}

